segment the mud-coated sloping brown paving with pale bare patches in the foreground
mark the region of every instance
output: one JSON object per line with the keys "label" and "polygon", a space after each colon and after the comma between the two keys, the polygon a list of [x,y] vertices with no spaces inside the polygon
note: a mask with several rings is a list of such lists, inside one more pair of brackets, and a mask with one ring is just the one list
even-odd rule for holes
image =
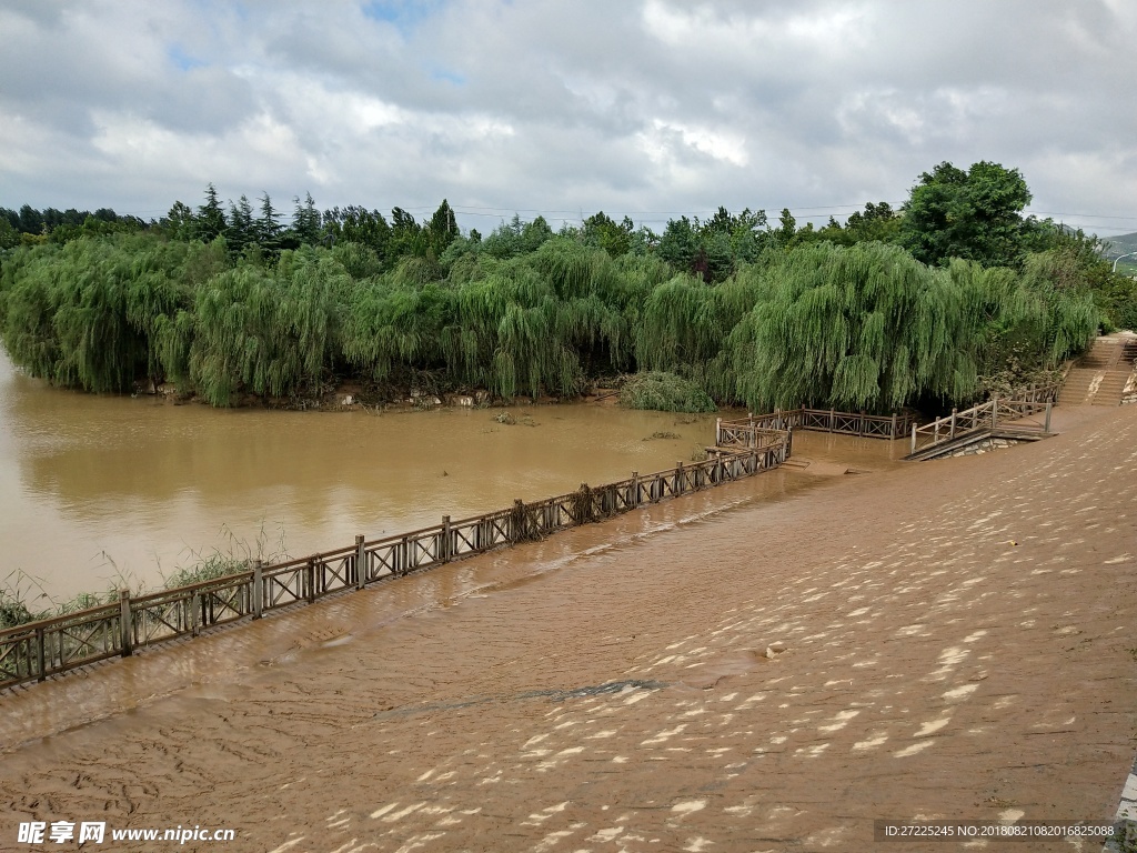
{"label": "mud-coated sloping brown paving with pale bare patches in the foreground", "polygon": [[[197,640],[227,668],[209,684],[3,756],[0,847],[32,817],[296,853],[947,851],[874,845],[873,819],[1111,819],[1137,747],[1137,406],[1099,413],[446,566],[410,581],[453,606],[413,618],[375,589]],[[481,571],[503,581],[460,594]],[[1004,846],[1099,850],[966,848]]]}

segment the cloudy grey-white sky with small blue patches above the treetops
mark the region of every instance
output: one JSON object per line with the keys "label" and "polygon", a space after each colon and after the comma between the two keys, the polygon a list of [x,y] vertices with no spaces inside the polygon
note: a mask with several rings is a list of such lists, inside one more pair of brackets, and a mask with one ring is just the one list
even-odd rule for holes
{"label": "cloudy grey-white sky with small blue patches above the treetops", "polygon": [[0,0],[0,206],[902,202],[949,160],[1137,231],[1134,0]]}

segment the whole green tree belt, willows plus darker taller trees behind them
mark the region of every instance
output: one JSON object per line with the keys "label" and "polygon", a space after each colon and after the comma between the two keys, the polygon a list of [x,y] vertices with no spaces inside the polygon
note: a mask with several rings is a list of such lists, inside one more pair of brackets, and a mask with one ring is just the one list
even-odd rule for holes
{"label": "whole green tree belt, willows plus darker taller trees behind them", "polygon": [[147,378],[218,406],[422,371],[571,395],[636,370],[754,408],[963,404],[1099,324],[1137,326],[1134,283],[1096,240],[1024,217],[1029,200],[1018,171],[979,163],[820,229],[719,208],[662,234],[598,213],[558,232],[514,216],[483,238],[447,201],[418,222],[310,196],[285,226],[267,193],[226,210],[213,185],[151,223],[25,205],[0,208],[0,231],[20,229],[0,233],[0,337],[59,384]]}

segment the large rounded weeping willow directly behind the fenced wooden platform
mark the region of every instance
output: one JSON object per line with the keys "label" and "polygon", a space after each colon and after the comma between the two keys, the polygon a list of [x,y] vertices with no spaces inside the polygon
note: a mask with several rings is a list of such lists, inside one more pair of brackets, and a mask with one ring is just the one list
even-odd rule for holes
{"label": "large rounded weeping willow directly behind the fenced wooden platform", "polygon": [[888,412],[974,388],[981,324],[949,275],[903,249],[802,246],[760,272],[758,290],[729,343],[739,396],[756,411]]}

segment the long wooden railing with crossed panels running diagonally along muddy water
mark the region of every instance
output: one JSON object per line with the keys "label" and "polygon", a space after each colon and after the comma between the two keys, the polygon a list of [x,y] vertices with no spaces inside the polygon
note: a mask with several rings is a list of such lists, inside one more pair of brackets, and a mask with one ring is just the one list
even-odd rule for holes
{"label": "long wooden railing with crossed panels running diagonally along muddy water", "polygon": [[451,560],[540,539],[579,524],[629,512],[777,467],[789,458],[790,433],[750,428],[749,446],[708,448],[705,462],[640,475],[596,488],[459,521],[366,541],[272,565],[259,561],[243,572],[142,596],[119,594],[99,607],[0,630],[0,688],[206,628],[259,619],[281,607],[315,602],[345,589],[430,569]]}

